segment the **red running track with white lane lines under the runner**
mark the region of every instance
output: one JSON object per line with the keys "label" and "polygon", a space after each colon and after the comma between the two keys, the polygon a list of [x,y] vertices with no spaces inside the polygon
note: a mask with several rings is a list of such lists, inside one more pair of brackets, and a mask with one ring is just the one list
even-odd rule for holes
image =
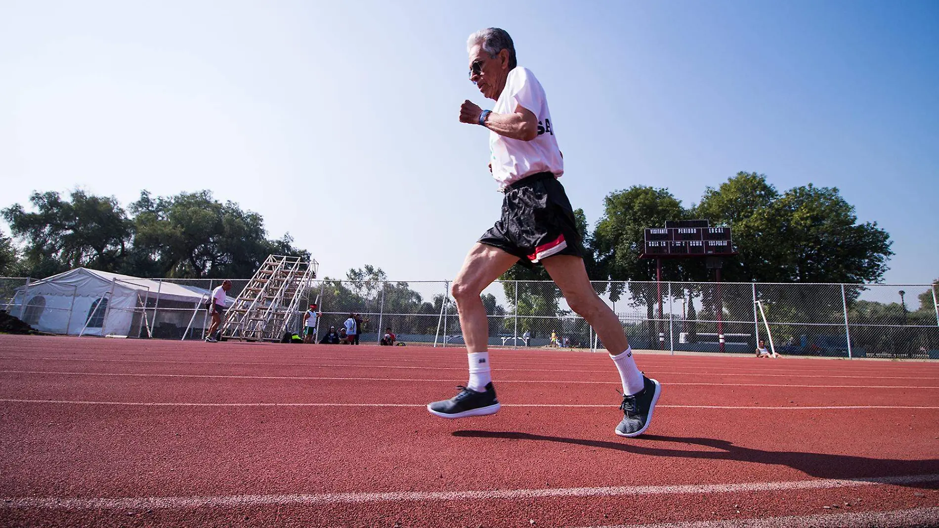
{"label": "red running track with white lane lines under the runner", "polygon": [[[0,335],[0,526],[933,526],[939,365]],[[680,523],[680,524],[670,524]]]}

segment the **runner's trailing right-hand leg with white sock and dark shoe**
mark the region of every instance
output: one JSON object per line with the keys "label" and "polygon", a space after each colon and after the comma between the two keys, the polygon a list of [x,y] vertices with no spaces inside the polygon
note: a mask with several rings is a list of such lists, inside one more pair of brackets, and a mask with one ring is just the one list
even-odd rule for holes
{"label": "runner's trailing right-hand leg with white sock and dark shoe", "polygon": [[639,436],[652,422],[653,410],[661,385],[657,380],[646,378],[639,372],[632,357],[632,350],[623,326],[607,303],[596,294],[584,261],[579,256],[556,255],[542,261],[554,284],[561,288],[564,299],[571,309],[585,318],[596,334],[603,340],[610,359],[616,364],[623,381],[623,421],[616,427],[616,434],[625,437]]}

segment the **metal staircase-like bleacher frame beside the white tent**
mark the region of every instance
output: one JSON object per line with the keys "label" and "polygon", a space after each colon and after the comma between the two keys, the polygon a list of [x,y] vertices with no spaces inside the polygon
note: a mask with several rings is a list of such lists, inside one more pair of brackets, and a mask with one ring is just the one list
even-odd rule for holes
{"label": "metal staircase-like bleacher frame beside the white tent", "polygon": [[280,341],[300,298],[316,278],[316,260],[270,255],[225,311],[222,336],[248,341]]}

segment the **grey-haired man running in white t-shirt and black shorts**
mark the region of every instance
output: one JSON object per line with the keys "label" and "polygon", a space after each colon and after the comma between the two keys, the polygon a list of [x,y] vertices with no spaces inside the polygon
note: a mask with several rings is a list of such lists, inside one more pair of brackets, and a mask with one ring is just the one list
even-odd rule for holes
{"label": "grey-haired man running in white t-shirt and black shorts", "polygon": [[465,101],[460,121],[489,129],[492,176],[505,196],[500,220],[469,250],[453,285],[469,382],[453,398],[427,405],[427,411],[442,418],[499,411],[480,294],[518,261],[544,266],[571,309],[603,340],[623,381],[623,420],[616,434],[639,436],[652,421],[661,385],[639,372],[620,319],[587,277],[574,210],[558,181],[564,163],[545,90],[530,70],[517,66],[515,44],[504,30],[490,27],[470,35],[467,50],[469,80],[496,105],[489,111]]}

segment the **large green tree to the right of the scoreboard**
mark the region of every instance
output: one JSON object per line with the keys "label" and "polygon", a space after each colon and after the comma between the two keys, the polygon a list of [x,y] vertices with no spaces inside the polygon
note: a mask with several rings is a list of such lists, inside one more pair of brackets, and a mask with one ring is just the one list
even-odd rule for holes
{"label": "large green tree to the right of the scoreboard", "polygon": [[[887,233],[876,223],[858,224],[854,207],[837,188],[808,184],[779,194],[764,175],[741,172],[717,189],[708,188],[690,214],[711,225],[731,226],[739,255],[725,258],[722,275],[727,282],[876,282],[893,255]],[[862,291],[846,289],[849,305]],[[738,293],[724,296],[721,304],[725,312],[742,318],[752,306],[745,292]],[[768,317],[777,320],[838,324],[844,316],[836,287],[764,284],[758,297],[766,302]],[[713,299],[704,295],[702,302],[705,312],[714,311]],[[805,332],[808,329],[780,328],[777,336]]]}

